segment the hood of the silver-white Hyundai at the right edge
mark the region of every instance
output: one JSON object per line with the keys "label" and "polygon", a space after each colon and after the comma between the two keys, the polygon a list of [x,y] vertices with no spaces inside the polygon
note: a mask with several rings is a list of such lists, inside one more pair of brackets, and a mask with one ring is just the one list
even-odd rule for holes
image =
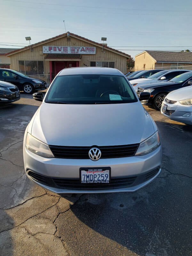
{"label": "hood of the silver-white Hyundai at the right edge", "polygon": [[186,100],[192,98],[192,86],[183,87],[175,91],[170,92],[166,96],[169,100]]}

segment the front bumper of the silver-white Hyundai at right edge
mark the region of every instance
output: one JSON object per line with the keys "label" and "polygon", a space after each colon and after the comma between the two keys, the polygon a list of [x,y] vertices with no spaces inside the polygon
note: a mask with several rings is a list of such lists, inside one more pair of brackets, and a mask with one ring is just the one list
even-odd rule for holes
{"label": "front bumper of the silver-white Hyundai at right edge", "polygon": [[[167,105],[167,112],[163,112],[161,108],[161,114],[168,117],[169,119],[177,122],[181,122],[184,124],[191,124],[192,125],[192,114],[189,117],[184,117],[183,115],[192,112],[191,105],[181,105],[179,101],[174,104],[169,104],[163,101],[163,104]],[[162,107],[163,107],[162,104]]]}

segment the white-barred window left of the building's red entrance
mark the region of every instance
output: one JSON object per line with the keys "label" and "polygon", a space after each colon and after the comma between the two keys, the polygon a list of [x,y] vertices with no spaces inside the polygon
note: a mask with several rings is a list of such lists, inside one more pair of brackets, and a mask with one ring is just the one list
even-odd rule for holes
{"label": "white-barred window left of the building's red entrance", "polygon": [[19,60],[19,71],[28,76],[44,76],[43,60]]}

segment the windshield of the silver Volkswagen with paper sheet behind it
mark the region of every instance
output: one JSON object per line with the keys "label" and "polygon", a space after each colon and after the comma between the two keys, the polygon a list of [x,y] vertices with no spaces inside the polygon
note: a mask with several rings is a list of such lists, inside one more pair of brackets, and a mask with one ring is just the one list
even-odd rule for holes
{"label": "windshield of the silver Volkswagen with paper sheet behind it", "polygon": [[124,76],[57,76],[45,102],[58,104],[110,104],[136,102],[137,97]]}

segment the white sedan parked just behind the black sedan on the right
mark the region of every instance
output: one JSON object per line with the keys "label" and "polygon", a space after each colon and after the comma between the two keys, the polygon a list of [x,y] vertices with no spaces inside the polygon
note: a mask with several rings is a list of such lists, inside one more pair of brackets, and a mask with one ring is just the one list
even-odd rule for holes
{"label": "white sedan parked just behind the black sedan on the right", "polygon": [[140,79],[134,79],[130,81],[132,86],[134,86],[134,90],[136,91],[138,87],[145,85],[145,84],[151,84],[161,81],[169,81],[175,76],[178,76],[182,73],[188,72],[190,70],[186,69],[170,69],[170,70],[163,70],[160,71],[152,76],[149,76],[148,78],[140,78]]}

